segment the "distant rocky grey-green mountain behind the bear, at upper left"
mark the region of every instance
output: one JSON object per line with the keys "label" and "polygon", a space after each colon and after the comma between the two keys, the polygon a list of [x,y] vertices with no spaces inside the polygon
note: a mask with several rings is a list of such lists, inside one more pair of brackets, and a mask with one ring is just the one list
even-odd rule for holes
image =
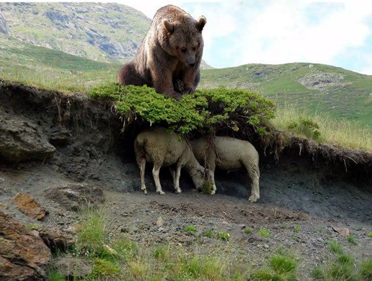
{"label": "distant rocky grey-green mountain behind the bear, at upper left", "polygon": [[[143,13],[115,3],[0,3],[0,33],[103,62],[131,60],[150,24]],[[211,67],[203,61],[202,68]]]}

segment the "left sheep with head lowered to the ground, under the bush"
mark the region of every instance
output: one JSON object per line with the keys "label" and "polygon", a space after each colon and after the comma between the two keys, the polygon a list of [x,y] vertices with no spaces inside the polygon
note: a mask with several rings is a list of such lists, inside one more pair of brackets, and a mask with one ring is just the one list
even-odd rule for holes
{"label": "left sheep with head lowered to the ground, under the bush", "polygon": [[204,175],[209,175],[195,159],[190,145],[184,139],[177,139],[176,134],[170,134],[163,127],[140,132],[134,141],[134,151],[141,173],[141,190],[144,194],[147,194],[145,186],[146,162],[154,163],[153,177],[156,192],[160,195],[165,194],[159,181],[159,171],[163,166],[175,166],[175,169],[169,167],[169,170],[177,194],[182,192],[179,184],[181,168],[185,168],[189,173],[196,189],[202,188],[205,181]]}

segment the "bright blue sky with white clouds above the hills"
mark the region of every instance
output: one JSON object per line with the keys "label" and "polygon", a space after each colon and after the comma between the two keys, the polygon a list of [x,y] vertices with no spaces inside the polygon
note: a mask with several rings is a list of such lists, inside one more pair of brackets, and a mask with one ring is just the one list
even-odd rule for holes
{"label": "bright blue sky with white clouds above the hills", "polygon": [[131,6],[150,19],[167,4],[205,16],[203,59],[213,67],[308,62],[372,75],[372,0],[101,2]]}

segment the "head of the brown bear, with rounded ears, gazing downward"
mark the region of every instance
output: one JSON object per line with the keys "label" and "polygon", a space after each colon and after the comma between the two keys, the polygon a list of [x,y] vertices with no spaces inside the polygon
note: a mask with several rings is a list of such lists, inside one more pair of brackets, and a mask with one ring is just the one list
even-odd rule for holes
{"label": "head of the brown bear, with rounded ears, gazing downward", "polygon": [[205,23],[204,16],[200,16],[198,20],[188,18],[173,23],[163,19],[162,24],[167,35],[166,51],[190,68],[196,67],[203,53],[202,30]]}

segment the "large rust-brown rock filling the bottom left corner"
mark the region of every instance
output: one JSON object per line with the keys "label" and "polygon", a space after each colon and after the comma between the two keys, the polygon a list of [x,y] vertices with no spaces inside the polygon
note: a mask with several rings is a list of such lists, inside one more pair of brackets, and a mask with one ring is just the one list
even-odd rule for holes
{"label": "large rust-brown rock filling the bottom left corner", "polygon": [[0,280],[45,280],[51,258],[40,237],[0,212]]}

